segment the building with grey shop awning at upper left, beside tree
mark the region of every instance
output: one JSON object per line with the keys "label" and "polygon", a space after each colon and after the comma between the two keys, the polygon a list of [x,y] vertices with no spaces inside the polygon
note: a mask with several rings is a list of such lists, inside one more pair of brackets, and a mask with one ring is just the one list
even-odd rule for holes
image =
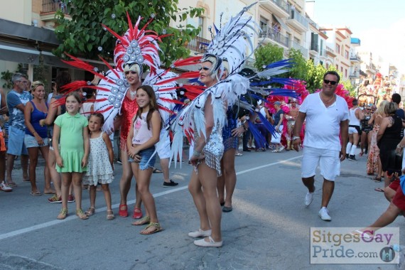
{"label": "building with grey shop awning at upper left, beside tree", "polygon": [[[38,65],[40,54],[49,69],[49,84],[58,68],[70,68],[51,53],[59,44],[53,27],[55,11],[61,8],[60,5],[53,0],[19,0],[0,4],[0,72],[14,72],[21,63],[32,80],[33,67]],[[3,85],[4,81],[0,83]]]}

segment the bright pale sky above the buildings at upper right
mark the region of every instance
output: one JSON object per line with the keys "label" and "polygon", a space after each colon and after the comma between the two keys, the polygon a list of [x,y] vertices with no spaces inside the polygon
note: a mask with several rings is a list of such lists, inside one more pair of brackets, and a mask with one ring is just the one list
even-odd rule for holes
{"label": "bright pale sky above the buildings at upper right", "polygon": [[312,19],[319,26],[347,26],[360,38],[360,50],[405,73],[405,0],[315,0]]}

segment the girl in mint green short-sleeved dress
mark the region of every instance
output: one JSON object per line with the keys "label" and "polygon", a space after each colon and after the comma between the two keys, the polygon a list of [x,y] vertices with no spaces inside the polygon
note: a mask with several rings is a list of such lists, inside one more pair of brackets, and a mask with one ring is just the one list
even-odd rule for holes
{"label": "girl in mint green short-sleeved dress", "polygon": [[63,220],[68,215],[70,183],[73,184],[76,196],[76,215],[82,220],[87,220],[88,217],[82,210],[82,173],[87,171],[90,148],[88,121],[79,114],[82,99],[77,92],[68,95],[65,105],[65,114],[60,115],[53,126],[56,171],[62,175],[62,210],[58,220]]}

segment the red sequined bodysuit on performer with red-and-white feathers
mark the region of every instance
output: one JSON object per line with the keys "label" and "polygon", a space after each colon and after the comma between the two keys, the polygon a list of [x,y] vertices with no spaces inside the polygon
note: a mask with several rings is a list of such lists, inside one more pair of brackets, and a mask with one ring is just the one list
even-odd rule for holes
{"label": "red sequined bodysuit on performer with red-and-white feathers", "polygon": [[138,103],[136,99],[131,100],[128,97],[124,97],[124,101],[121,105],[121,133],[120,137],[120,148],[123,151],[126,151],[126,138],[128,137],[129,129],[131,128],[131,120],[134,115],[138,112]]}

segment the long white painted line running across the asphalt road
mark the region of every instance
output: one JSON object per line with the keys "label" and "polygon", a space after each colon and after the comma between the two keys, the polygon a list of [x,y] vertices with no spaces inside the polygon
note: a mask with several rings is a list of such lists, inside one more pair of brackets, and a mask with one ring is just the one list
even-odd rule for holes
{"label": "long white painted line running across the asphalt road", "polygon": [[[248,170],[244,170],[244,171],[239,171],[239,172],[237,172],[237,175],[241,175],[241,174],[244,174],[244,173],[249,173],[249,172],[251,172],[251,171],[256,171],[256,170],[259,170],[259,169],[261,169],[261,168],[266,168],[266,167],[269,167],[269,166],[274,166],[274,165],[277,165],[277,164],[280,164],[280,163],[285,163],[285,162],[287,162],[287,161],[293,161],[294,159],[301,158],[301,157],[302,157],[302,156],[296,156],[296,157],[293,157],[293,158],[285,159],[284,161],[277,161],[277,162],[269,163],[269,164],[266,164],[266,165],[263,165],[263,166],[257,166],[257,167],[254,167],[254,168],[249,168]],[[156,193],[156,194],[153,195],[153,197],[154,197],[154,198],[156,198],[156,197],[161,197],[161,196],[163,196],[163,195],[167,195],[167,194],[170,194],[170,193],[178,192],[178,191],[180,191],[180,190],[185,190],[186,188],[188,188],[187,185],[185,185],[185,186],[183,186],[183,187],[180,187],[180,188],[173,188],[173,189],[171,189],[171,190],[163,191],[163,192],[161,192],[161,193]],[[129,201],[126,202],[126,203],[127,203],[127,205],[131,205],[131,204],[135,203],[135,200],[129,200]],[[116,209],[116,208],[118,208],[118,207],[119,207],[119,203],[117,203],[117,204],[115,204],[115,205],[112,205],[112,209]],[[102,207],[102,208],[97,208],[96,212],[104,212],[104,211],[106,211],[106,210],[107,210],[107,207]],[[8,233],[6,233],[6,234],[0,234],[0,240],[6,239],[6,238],[10,238],[10,237],[16,237],[16,236],[18,236],[18,235],[20,235],[20,234],[25,234],[26,232],[35,231],[36,229],[43,229],[43,228],[45,228],[45,227],[50,227],[50,226],[53,226],[53,225],[58,225],[58,224],[60,224],[60,223],[67,222],[67,221],[73,220],[73,219],[77,219],[76,215],[70,215],[70,216],[66,217],[65,220],[52,220],[52,221],[45,222],[45,223],[41,223],[41,224],[34,225],[34,226],[31,226],[31,227],[26,227],[26,228],[24,228],[24,229],[17,229],[17,230],[15,230],[15,231],[13,231],[13,232],[8,232]]]}

